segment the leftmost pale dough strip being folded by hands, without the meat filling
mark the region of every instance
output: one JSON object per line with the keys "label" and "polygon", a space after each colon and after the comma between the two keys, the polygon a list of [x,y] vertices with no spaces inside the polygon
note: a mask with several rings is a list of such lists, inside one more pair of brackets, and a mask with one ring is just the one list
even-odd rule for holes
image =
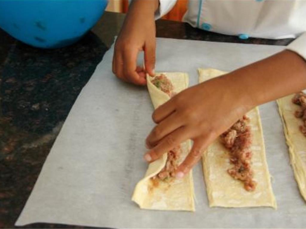
{"label": "leftmost pale dough strip being folded by hands, without the meat filling", "polygon": [[[174,92],[180,91],[188,87],[188,75],[180,72],[163,72],[156,75],[164,74],[174,86]],[[154,108],[170,99],[170,96],[157,89],[152,84],[150,77],[147,76],[147,87],[151,96]],[[181,163],[191,149],[191,141],[187,140],[181,143]],[[147,172],[142,180],[140,180],[134,190],[132,200],[135,201],[140,208],[155,210],[185,210],[195,211],[194,207],[194,188],[192,171],[183,179],[169,178],[167,181],[156,180],[158,184],[152,182],[151,177],[158,174],[165,166],[167,154],[149,164]]]}

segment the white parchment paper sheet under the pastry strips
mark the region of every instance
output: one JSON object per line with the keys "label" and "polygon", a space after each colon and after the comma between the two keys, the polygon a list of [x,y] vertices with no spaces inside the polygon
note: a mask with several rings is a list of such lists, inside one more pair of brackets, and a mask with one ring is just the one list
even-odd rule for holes
{"label": "white parchment paper sheet under the pastry strips", "polygon": [[[155,69],[187,72],[194,85],[198,67],[231,71],[282,49],[159,38]],[[131,196],[147,169],[142,157],[154,126],[153,107],[145,87],[112,74],[112,56],[113,47],[73,105],[16,225],[306,227],[306,203],[294,180],[275,102],[260,106],[260,113],[277,210],[209,208],[200,163],[193,170],[195,213],[139,209]]]}

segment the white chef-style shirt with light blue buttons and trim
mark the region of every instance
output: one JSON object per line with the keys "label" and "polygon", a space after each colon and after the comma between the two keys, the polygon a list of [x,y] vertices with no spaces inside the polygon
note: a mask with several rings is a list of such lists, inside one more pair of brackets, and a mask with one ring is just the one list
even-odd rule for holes
{"label": "white chef-style shirt with light blue buttons and trim", "polygon": [[[168,13],[176,0],[159,0],[155,17]],[[306,60],[306,0],[189,0],[183,21],[226,35],[297,38],[287,49]]]}

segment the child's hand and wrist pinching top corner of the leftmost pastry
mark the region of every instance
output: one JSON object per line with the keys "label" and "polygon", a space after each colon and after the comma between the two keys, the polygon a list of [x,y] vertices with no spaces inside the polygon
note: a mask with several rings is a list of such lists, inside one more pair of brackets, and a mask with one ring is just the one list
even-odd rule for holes
{"label": "child's hand and wrist pinching top corner of the leftmost pastry", "polygon": [[134,0],[115,43],[114,74],[127,82],[146,84],[145,71],[136,66],[138,52],[144,50],[146,72],[154,75],[155,19],[158,0]]}

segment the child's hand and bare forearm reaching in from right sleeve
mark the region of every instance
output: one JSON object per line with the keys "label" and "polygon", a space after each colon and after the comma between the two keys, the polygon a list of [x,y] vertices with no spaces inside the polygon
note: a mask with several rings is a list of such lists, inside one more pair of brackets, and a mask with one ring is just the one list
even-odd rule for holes
{"label": "child's hand and bare forearm reaching in from right sleeve", "polygon": [[193,146],[176,176],[184,176],[220,134],[259,104],[306,88],[306,62],[285,50],[229,74],[188,88],[158,107],[147,137],[151,162],[187,139]]}

